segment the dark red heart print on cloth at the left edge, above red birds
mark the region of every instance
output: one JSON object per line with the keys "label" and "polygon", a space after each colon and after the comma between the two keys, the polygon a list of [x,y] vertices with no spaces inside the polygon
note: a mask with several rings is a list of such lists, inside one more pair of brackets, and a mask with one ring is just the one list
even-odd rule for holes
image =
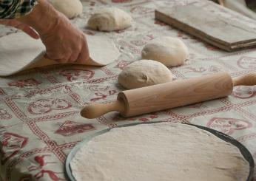
{"label": "dark red heart print on cloth at the left edge, above red birds", "polygon": [[1,157],[1,164],[6,163],[11,157],[17,154],[21,148],[27,145],[28,138],[15,133],[4,132],[1,137],[1,152],[4,154],[3,157]]}

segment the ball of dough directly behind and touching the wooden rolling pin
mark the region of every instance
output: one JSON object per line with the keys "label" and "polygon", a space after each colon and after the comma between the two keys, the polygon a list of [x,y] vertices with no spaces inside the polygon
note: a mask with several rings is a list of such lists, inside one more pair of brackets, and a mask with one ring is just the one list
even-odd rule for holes
{"label": "ball of dough directly behind and touching the wooden rolling pin", "polygon": [[158,61],[141,60],[129,64],[118,76],[118,83],[127,89],[152,86],[172,81],[172,72]]}

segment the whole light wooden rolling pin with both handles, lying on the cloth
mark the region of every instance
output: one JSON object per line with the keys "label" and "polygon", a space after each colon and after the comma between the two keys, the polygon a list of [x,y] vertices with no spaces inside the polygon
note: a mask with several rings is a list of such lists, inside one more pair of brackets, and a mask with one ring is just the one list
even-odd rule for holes
{"label": "whole light wooden rolling pin with both handles, lying on the cloth", "polygon": [[118,93],[117,100],[112,103],[92,103],[85,106],[81,110],[81,116],[92,119],[114,111],[121,112],[124,117],[143,115],[223,98],[232,93],[233,86],[255,84],[255,73],[231,78],[228,73],[219,72],[199,78],[188,78],[122,91]]}

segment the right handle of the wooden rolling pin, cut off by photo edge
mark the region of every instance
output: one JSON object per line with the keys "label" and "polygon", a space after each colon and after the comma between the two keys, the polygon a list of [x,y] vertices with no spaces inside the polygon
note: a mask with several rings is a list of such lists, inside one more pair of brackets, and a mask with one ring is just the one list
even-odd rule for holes
{"label": "right handle of the wooden rolling pin, cut off by photo edge", "polygon": [[255,86],[256,85],[256,73],[249,73],[233,78],[234,86]]}

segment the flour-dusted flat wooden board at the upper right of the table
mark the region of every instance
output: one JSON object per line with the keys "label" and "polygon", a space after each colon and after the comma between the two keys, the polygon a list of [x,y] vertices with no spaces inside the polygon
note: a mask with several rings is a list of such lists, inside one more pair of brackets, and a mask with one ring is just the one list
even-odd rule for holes
{"label": "flour-dusted flat wooden board at the upper right of the table", "polygon": [[195,4],[155,10],[155,18],[213,44],[234,51],[256,47],[256,30],[238,21],[223,18]]}

